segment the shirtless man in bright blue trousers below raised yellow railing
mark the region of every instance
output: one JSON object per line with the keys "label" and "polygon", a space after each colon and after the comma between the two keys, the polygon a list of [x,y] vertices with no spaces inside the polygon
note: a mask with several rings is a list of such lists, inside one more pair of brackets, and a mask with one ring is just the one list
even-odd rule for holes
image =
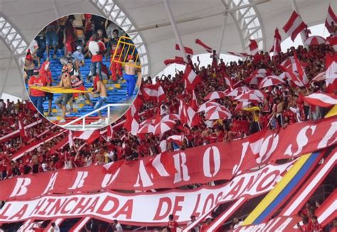
{"label": "shirtless man in bright blue trousers below raised yellow railing", "polygon": [[[123,75],[123,78],[127,81],[127,101],[132,99],[132,95],[134,94],[134,88],[140,85],[139,79],[141,79],[141,70],[139,68],[134,67],[136,65],[136,62],[133,60],[134,58],[132,55],[129,55],[127,57],[127,60],[129,62],[125,63],[124,70],[125,73]],[[138,76],[136,76],[136,73]],[[138,78],[137,78],[138,77]]]}

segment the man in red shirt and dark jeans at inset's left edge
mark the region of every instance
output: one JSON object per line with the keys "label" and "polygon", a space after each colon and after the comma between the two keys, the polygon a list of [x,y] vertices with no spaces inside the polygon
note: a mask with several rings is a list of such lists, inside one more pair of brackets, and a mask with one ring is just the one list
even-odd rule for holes
{"label": "man in red shirt and dark jeans at inset's left edge", "polygon": [[34,69],[33,76],[28,81],[28,86],[30,87],[30,98],[31,102],[36,106],[38,111],[43,114],[43,101],[46,93],[40,90],[31,89],[31,87],[44,87],[47,85],[48,80],[45,76],[41,76],[38,69]]}

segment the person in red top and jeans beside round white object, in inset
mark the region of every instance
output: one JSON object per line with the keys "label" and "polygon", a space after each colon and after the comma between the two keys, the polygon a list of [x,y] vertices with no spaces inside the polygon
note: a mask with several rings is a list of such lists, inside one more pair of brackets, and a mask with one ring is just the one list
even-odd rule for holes
{"label": "person in red top and jeans beside round white object, in inset", "polygon": [[99,47],[98,51],[90,50],[90,53],[92,55],[91,65],[90,65],[91,75],[92,75],[92,77],[96,77],[96,75],[98,74],[100,79],[103,80],[103,77],[102,77],[102,61],[103,61],[103,54],[105,53],[105,45],[102,41],[98,40],[97,34],[92,35],[91,41],[88,43],[89,48],[91,48],[90,43],[97,43],[98,47]]}

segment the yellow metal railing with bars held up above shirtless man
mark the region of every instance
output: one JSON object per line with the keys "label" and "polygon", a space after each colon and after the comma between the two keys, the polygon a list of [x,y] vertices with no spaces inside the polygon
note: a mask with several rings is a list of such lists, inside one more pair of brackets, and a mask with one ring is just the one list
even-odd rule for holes
{"label": "yellow metal railing with bars held up above shirtless man", "polygon": [[[114,55],[112,55],[112,59],[110,62],[110,66],[112,65],[112,62],[117,62],[122,65],[125,65],[129,60],[127,60],[127,57],[131,55],[134,57],[134,54],[136,53],[136,45],[133,43],[128,43],[126,40],[131,40],[131,38],[127,36],[121,36],[119,37],[118,43],[117,43],[117,48],[114,50]],[[118,53],[118,48],[122,48],[120,50],[120,55],[117,57]],[[124,53],[124,50],[127,50],[126,53]],[[132,53],[129,53],[129,51],[132,50]],[[122,59],[121,59],[122,58]],[[139,53],[137,53],[136,57],[134,58],[134,63],[128,63],[128,65],[133,66],[133,67],[138,67],[141,68],[141,62],[139,61]]]}

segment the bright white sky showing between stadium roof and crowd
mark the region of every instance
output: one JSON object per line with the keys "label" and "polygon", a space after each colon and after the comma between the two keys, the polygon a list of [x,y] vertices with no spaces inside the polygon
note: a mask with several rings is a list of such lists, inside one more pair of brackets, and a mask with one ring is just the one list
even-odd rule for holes
{"label": "bright white sky showing between stadium roof and crowd", "polygon": [[[326,30],[326,27],[324,26],[324,24],[318,24],[316,26],[311,26],[309,27],[310,31],[311,31],[311,35],[321,35],[324,38],[328,37],[329,33]],[[290,48],[291,46],[297,47],[298,45],[302,45],[302,41],[301,41],[301,35],[297,35],[296,39],[294,40],[294,42],[291,41],[290,38],[287,38],[285,40],[282,41],[281,43],[281,49],[282,51],[287,50],[287,48]],[[212,62],[211,58],[210,58],[210,53],[204,53],[204,54],[199,54],[199,55],[193,55],[192,60],[193,62],[197,62],[197,57],[199,56],[200,58],[200,67],[201,66],[207,66],[208,64],[210,64]],[[237,57],[235,55],[227,55],[227,54],[221,54],[220,58],[222,58],[225,63],[230,62],[230,61],[237,61],[240,60],[240,57]],[[174,75],[176,73],[176,69],[177,70],[184,70],[185,66],[184,65],[176,65],[176,64],[172,64],[169,65],[168,67],[166,67],[163,71],[159,72],[159,74],[156,74],[154,77],[159,76],[161,77],[161,74],[172,74]],[[18,99],[16,96],[12,96],[9,94],[2,94],[1,99],[10,99],[11,101],[15,101]]]}

